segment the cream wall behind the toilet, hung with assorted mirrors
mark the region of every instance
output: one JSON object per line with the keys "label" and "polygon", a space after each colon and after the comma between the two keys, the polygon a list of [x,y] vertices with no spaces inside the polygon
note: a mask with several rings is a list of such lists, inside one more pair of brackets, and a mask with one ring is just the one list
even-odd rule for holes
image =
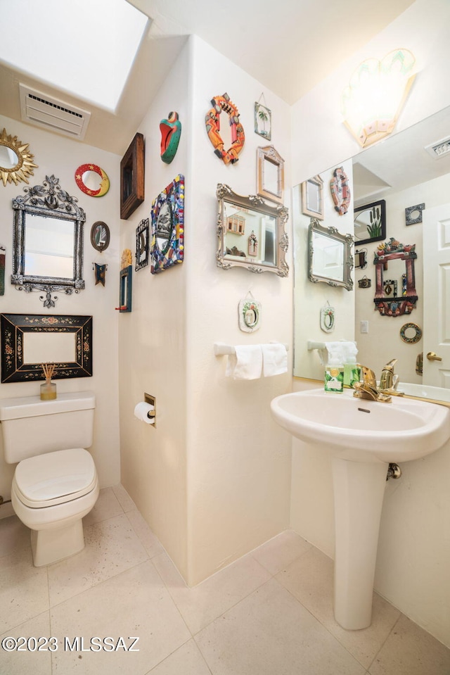
{"label": "cream wall behind the toilet, hung with assorted mirrors", "polygon": [[[56,307],[44,308],[39,293],[18,291],[11,284],[13,246],[12,200],[27,187],[24,182],[0,184],[0,244],[6,246],[5,294],[0,296],[1,313],[15,314],[62,314],[93,316],[93,377],[58,379],[58,392],[91,390],[96,394],[94,456],[101,487],[115,485],[120,481],[120,447],[118,424],[118,367],[117,367],[117,312],[119,275],[119,161],[116,155],[63,136],[49,134],[37,127],[24,125],[0,116],[0,129],[17,136],[23,143],[30,144],[34,155],[34,175],[30,186],[44,182],[46,176],[54,174],[60,179],[60,186],[78,199],[79,206],[86,212],[84,225],[84,280],[86,287],[79,294],[66,296],[56,293]],[[110,179],[110,190],[103,197],[89,197],[75,183],[75,170],[81,164],[98,164]],[[103,220],[110,228],[110,246],[99,253],[91,246],[91,226],[96,220]],[[105,287],[95,285],[92,263],[108,264]],[[0,384],[0,397],[36,396],[39,381]],[[0,449],[0,494],[5,499],[11,496],[11,480],[14,465],[4,463],[3,448]],[[1,515],[9,515],[8,506],[2,507]]]}

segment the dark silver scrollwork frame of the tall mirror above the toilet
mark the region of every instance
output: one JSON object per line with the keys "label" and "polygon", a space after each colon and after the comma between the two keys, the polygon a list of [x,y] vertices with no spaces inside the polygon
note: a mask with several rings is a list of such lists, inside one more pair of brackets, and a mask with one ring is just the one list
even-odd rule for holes
{"label": "dark silver scrollwork frame of the tall mirror above the toilet", "polygon": [[[77,198],[70,196],[59,184],[59,178],[46,176],[42,185],[25,187],[25,195],[13,199],[13,274],[11,284],[18,290],[44,291],[41,296],[44,307],[55,306],[57,296],[53,291],[63,291],[71,295],[84,289],[83,275],[83,226],[86,220],[84,210],[78,206]],[[73,222],[73,276],[50,277],[25,274],[25,239],[27,235],[27,215],[56,218]]]}

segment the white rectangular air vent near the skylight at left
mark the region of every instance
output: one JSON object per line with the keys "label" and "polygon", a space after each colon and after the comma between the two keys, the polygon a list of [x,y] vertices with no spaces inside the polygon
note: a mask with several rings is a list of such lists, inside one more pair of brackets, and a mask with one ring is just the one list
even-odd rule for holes
{"label": "white rectangular air vent near the skylight at left", "polygon": [[91,113],[19,84],[22,120],[82,141]]}

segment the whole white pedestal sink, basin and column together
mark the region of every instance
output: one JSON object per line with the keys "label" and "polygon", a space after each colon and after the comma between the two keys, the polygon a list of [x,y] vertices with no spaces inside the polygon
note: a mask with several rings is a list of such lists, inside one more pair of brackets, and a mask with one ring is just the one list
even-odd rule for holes
{"label": "whole white pedestal sink, basin and column together", "polygon": [[333,453],[335,619],[345,629],[367,628],[389,463],[441,448],[450,439],[450,410],[401,397],[354,398],[351,389],[288,393],[274,398],[271,410],[293,436]]}

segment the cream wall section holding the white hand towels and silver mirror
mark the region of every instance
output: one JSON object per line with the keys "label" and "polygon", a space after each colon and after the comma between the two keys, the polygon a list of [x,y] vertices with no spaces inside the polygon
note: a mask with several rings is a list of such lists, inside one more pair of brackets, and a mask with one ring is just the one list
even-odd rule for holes
{"label": "cream wall section holding the white hand towels and silver mirror", "polygon": [[[292,381],[292,251],[287,278],[239,267],[221,270],[215,260],[217,184],[229,184],[243,195],[257,191],[257,147],[267,141],[254,132],[254,103],[263,91],[272,112],[270,142],[285,158],[285,203],[290,207],[289,107],[205,42],[193,39],[193,182],[186,261],[189,583],[205,579],[288,526],[290,439],[271,419],[270,400],[289,391]],[[212,96],[224,92],[238,106],[245,130],[239,160],[228,166],[214,154],[204,123]],[[289,237],[292,242],[290,223]],[[238,303],[248,291],[262,304],[262,325],[252,334],[238,328]],[[226,357],[214,356],[216,341],[288,343],[288,373],[253,381],[226,378]]]}

